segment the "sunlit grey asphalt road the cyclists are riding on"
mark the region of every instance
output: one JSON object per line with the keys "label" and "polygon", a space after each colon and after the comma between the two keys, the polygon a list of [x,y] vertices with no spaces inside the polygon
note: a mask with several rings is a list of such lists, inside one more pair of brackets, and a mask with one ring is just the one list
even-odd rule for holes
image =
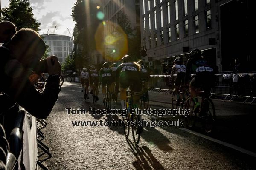
{"label": "sunlit grey asphalt road the cyclists are riding on", "polygon": [[[157,96],[150,94],[150,98]],[[179,127],[145,127],[138,147],[131,134],[125,139],[122,127],[73,126],[72,121],[110,121],[121,116],[68,114],[65,108],[103,109],[85,103],[78,83],[64,82],[57,103],[47,118],[44,142],[52,153],[50,170],[131,169],[131,170],[253,170],[255,158],[195,136]],[[120,105],[116,105],[120,108]],[[168,103],[152,102],[152,108],[169,108]],[[168,117],[143,116],[147,121]]]}

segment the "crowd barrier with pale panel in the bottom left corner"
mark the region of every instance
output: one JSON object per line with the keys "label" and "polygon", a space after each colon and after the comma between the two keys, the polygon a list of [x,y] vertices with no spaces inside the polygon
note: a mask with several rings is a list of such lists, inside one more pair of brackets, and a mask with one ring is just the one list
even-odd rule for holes
{"label": "crowd barrier with pale panel in the bottom left corner", "polygon": [[[44,161],[52,154],[49,152],[49,147],[42,142],[44,133],[40,130],[46,127],[47,122],[45,119],[36,119],[23,108],[20,108],[15,119],[9,137],[6,170],[48,170]],[[45,154],[47,157],[38,160]]]}

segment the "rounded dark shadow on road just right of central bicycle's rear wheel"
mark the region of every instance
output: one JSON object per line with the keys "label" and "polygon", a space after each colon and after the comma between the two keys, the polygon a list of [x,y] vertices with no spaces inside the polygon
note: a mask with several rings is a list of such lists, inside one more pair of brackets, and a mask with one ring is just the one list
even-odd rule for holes
{"label": "rounded dark shadow on road just right of central bicycle's rear wheel", "polygon": [[164,136],[160,131],[154,128],[147,126],[144,127],[143,132],[141,133],[141,137],[148,143],[156,145],[160,150],[172,150],[172,147],[169,146],[169,144],[171,144],[170,140],[166,136]]}

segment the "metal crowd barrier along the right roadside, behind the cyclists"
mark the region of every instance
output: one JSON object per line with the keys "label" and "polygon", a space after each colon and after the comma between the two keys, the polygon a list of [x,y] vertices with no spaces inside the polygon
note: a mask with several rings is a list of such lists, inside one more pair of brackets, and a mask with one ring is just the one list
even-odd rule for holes
{"label": "metal crowd barrier along the right roadside, behind the cyclists", "polygon": [[[243,103],[250,104],[256,101],[256,73],[217,73],[215,76],[212,95],[223,96],[223,100],[230,101],[241,97],[244,99]],[[174,87],[168,85],[169,77],[170,75],[150,75],[149,91],[171,94]]]}

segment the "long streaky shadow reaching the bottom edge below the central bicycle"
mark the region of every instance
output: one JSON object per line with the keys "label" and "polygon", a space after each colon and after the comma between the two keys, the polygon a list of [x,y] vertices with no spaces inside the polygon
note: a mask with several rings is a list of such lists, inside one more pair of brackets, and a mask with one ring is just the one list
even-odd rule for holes
{"label": "long streaky shadow reaching the bottom edge below the central bicycle", "polygon": [[[131,147],[131,151],[137,158],[132,164],[137,170],[165,170],[163,165],[154,157],[151,150],[146,146],[135,146],[130,139],[126,139],[127,143]],[[150,163],[150,164],[149,164]]]}

